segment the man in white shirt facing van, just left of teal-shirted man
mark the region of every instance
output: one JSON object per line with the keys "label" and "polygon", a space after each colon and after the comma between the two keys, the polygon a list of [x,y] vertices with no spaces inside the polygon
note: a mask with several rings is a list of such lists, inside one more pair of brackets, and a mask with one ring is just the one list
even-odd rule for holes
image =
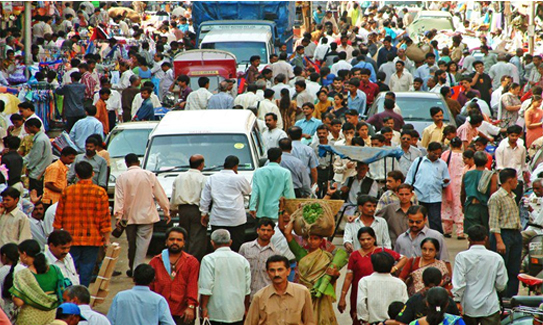
{"label": "man in white shirt facing van, just left of teal-shirted man", "polygon": [[244,196],[251,194],[251,184],[244,176],[238,175],[238,165],[238,157],[226,157],[224,169],[207,179],[200,199],[202,225],[207,227],[210,224],[213,231],[228,230],[235,252],[245,238],[247,215]]}

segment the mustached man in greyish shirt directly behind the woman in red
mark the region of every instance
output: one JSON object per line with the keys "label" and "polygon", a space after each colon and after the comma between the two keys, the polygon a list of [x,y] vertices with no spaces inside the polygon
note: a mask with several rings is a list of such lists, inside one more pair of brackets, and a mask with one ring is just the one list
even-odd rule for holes
{"label": "mustached man in greyish shirt directly behind the woman in red", "polygon": [[436,258],[444,261],[450,270],[449,251],[445,243],[445,237],[426,226],[428,222],[428,210],[422,205],[413,205],[407,210],[407,224],[409,229],[398,236],[394,250],[406,257],[421,256],[420,243],[427,237],[439,242],[439,253]]}

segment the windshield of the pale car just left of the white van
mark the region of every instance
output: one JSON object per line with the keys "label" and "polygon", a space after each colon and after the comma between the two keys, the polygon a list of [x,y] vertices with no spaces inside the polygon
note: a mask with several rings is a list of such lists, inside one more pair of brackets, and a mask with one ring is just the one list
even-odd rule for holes
{"label": "windshield of the pale car just left of the white van", "polygon": [[149,129],[117,129],[108,138],[107,151],[111,158],[122,158],[129,153],[143,157],[147,147]]}

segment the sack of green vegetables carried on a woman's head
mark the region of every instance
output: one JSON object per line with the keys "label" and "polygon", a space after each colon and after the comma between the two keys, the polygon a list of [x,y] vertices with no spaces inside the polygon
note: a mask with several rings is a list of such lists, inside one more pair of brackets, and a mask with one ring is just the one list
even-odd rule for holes
{"label": "sack of green vegetables carried on a woman's head", "polygon": [[304,238],[309,235],[329,237],[334,233],[334,213],[326,201],[303,203],[291,218],[294,218],[294,231]]}

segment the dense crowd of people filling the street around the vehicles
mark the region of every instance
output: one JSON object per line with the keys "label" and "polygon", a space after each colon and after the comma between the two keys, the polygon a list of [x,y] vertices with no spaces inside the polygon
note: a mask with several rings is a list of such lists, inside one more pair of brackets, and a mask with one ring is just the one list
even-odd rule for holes
{"label": "dense crowd of people filling the street around the vehicles", "polygon": [[[242,86],[224,80],[217,89],[172,70],[173,58],[195,46],[190,8],[152,31],[126,12],[108,14],[106,3],[59,2],[54,17],[36,16],[33,60],[51,47],[71,59],[63,75],[38,71],[31,84],[63,98],[73,146],[53,162],[32,100],[0,114],[0,323],[193,324],[199,315],[211,324],[337,324],[337,300],[353,324],[497,324],[500,298],[518,293],[528,243],[541,234],[526,222],[543,225],[542,177],[527,164],[543,143],[541,56],[496,53],[481,38],[477,59],[461,33],[449,48],[429,30],[430,51],[410,58],[409,11],[364,4],[317,7],[292,53],[281,46],[263,68],[255,53]],[[105,37],[85,49],[84,31],[98,26],[126,46]],[[0,84],[12,86],[24,42],[17,28],[0,40]],[[417,131],[402,115],[403,92],[437,93],[446,105],[421,103],[432,122]],[[118,123],[156,119],[172,94],[175,110],[251,110],[268,162],[249,182],[236,156],[206,176],[206,157],[193,155],[179,162],[190,168],[168,198],[128,154],[112,224],[104,137]],[[368,116],[378,96],[382,109]],[[8,105],[0,100],[0,112]],[[402,154],[366,163],[323,155],[322,146]],[[342,247],[296,235],[283,198],[344,200]],[[172,217],[179,226],[147,264],[153,225]],[[257,238],[246,242],[251,218]],[[123,232],[135,286],[115,295],[106,317],[92,310],[88,288],[110,236]],[[453,236],[469,242],[454,260]]]}

